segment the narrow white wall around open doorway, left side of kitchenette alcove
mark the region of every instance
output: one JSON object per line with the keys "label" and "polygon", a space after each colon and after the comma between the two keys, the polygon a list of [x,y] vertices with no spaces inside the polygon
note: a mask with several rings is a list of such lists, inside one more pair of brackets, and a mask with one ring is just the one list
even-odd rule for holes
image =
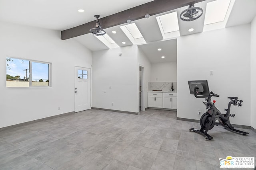
{"label": "narrow white wall around open doorway, left side of kitchenette alcove", "polygon": [[151,63],[143,53],[143,51],[138,48],[138,63],[140,66],[144,67],[144,106],[148,107],[148,82],[151,80]]}

